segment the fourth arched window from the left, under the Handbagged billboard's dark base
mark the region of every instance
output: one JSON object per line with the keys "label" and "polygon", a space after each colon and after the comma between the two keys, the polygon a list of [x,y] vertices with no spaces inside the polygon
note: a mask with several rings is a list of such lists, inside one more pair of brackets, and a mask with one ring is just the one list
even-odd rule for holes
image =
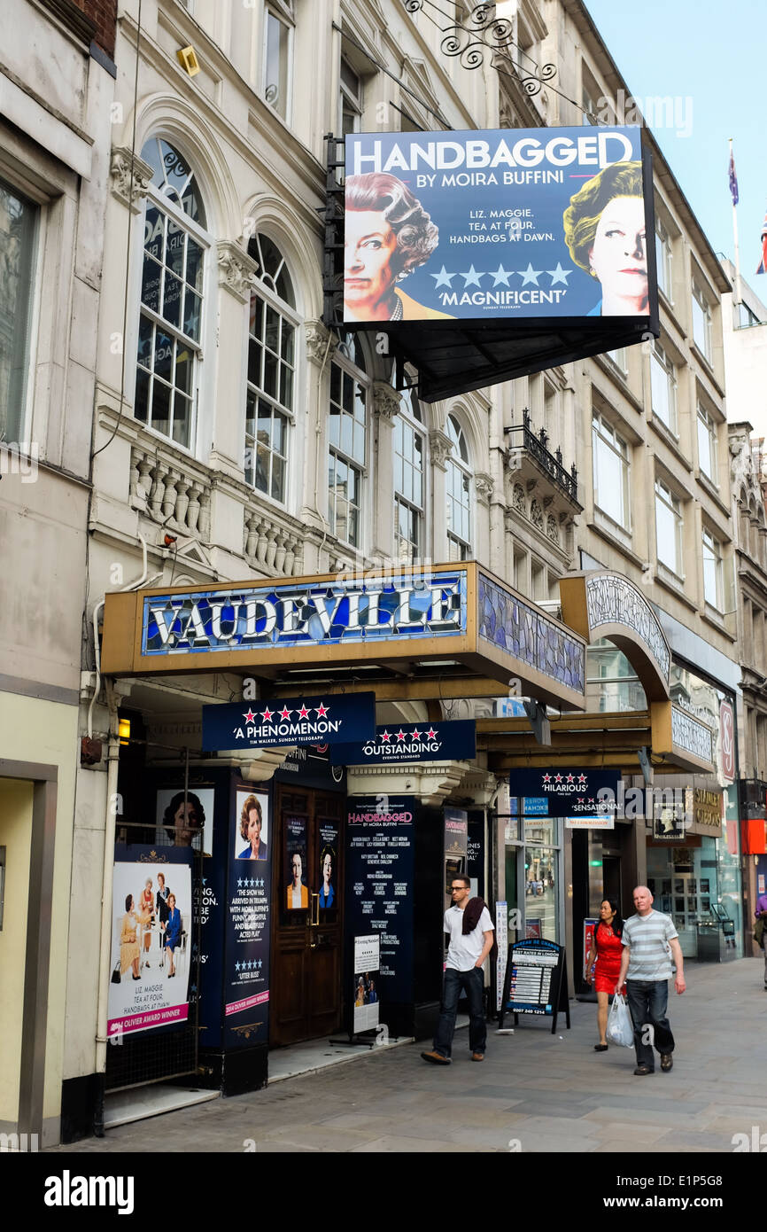
{"label": "fourth arched window from the left, under the Handbagged billboard's dark base", "polygon": [[394,554],[401,564],[424,556],[426,509],[426,434],[421,410],[403,391],[394,420]]}

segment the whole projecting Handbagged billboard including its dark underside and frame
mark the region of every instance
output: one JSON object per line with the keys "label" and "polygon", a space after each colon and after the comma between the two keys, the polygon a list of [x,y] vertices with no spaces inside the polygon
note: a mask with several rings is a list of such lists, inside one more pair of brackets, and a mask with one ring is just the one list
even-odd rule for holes
{"label": "whole projecting Handbagged billboard including its dark underside and frame", "polygon": [[660,336],[639,127],[350,133],[345,160],[324,319],[375,330],[424,402]]}

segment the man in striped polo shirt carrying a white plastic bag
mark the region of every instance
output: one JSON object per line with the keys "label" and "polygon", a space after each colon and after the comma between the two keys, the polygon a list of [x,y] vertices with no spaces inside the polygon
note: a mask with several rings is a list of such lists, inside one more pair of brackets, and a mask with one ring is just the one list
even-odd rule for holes
{"label": "man in striped polo shirt carrying a white plastic bag", "polygon": [[636,1048],[634,1073],[644,1077],[655,1071],[653,1044],[660,1052],[664,1073],[673,1064],[673,1036],[666,1018],[672,958],[676,965],[673,987],[677,993],[683,993],[687,984],[682,947],[673,920],[653,910],[653,894],[646,886],[636,886],[633,897],[636,914],[630,915],[623,925],[623,957],[616,995],[625,982]]}

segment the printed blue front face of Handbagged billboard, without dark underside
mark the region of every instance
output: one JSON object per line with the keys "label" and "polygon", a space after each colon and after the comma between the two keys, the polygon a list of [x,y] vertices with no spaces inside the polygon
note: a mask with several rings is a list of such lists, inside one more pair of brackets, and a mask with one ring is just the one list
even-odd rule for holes
{"label": "printed blue front face of Handbagged billboard, without dark underside", "polygon": [[640,132],[347,136],[343,320],[650,317]]}

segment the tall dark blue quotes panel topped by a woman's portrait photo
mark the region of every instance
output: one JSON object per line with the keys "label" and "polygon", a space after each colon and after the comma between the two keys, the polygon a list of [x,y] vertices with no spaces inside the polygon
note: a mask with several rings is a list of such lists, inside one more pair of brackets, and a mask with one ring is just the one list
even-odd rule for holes
{"label": "tall dark blue quotes panel topped by a woman's portrait photo", "polygon": [[[250,785],[240,784],[233,793],[234,838],[229,850],[227,904],[224,1016],[229,1045],[266,1044],[268,1040],[268,795],[254,792]],[[247,832],[245,840],[244,828]]]}

